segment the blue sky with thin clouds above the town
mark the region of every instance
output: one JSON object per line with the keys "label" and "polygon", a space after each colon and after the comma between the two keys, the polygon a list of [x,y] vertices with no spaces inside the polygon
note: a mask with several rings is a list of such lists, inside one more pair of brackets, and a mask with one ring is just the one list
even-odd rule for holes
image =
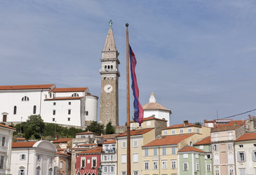
{"label": "blue sky with thin clouds above the town", "polygon": [[1,85],[55,83],[88,87],[100,96],[99,59],[112,19],[121,61],[120,125],[126,122],[125,23],[138,60],[140,103],[148,103],[153,91],[173,112],[171,124],[213,120],[217,110],[222,118],[256,108],[255,1],[0,3]]}

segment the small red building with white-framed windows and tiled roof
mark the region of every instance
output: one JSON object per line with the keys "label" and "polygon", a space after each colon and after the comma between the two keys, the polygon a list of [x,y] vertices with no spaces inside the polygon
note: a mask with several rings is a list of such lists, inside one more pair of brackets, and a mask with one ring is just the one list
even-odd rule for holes
{"label": "small red building with white-framed windows and tiled roof", "polygon": [[75,174],[77,175],[97,175],[100,166],[102,147],[96,147],[76,155]]}

